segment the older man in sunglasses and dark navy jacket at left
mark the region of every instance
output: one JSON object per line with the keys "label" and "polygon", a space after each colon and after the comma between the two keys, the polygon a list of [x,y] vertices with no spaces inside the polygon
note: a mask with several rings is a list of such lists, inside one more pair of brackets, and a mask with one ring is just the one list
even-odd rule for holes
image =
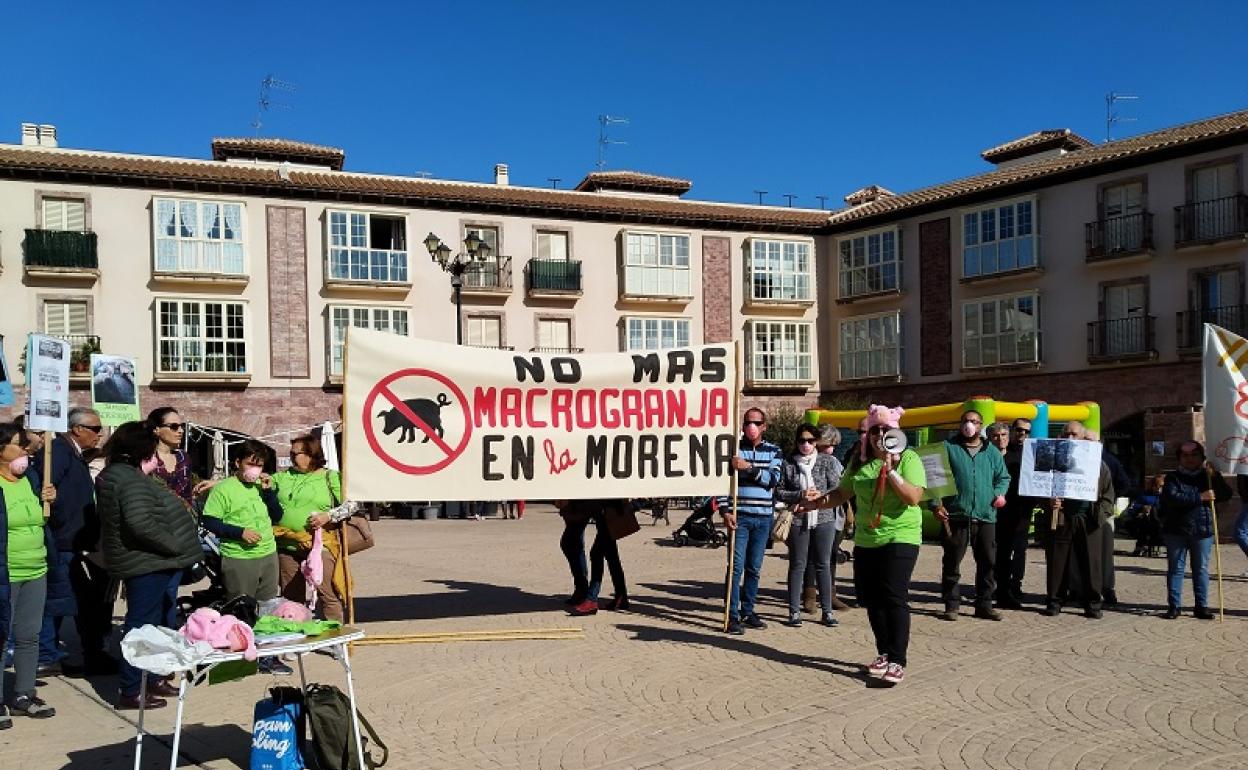
{"label": "older man in sunglasses and dark navy jacket at left", "polygon": [[67,416],[69,433],[52,441],[52,472],[56,487],[47,528],[56,552],[47,554],[47,602],[44,628],[39,635],[40,673],[77,673],[65,663],[61,650],[61,620],[74,616],[82,644],[82,665],[87,674],[115,674],[117,661],[105,651],[112,608],[109,607],[109,574],[86,558],[100,540],[100,520],[95,512],[95,483],[82,452],[100,443],[100,416],[95,409],[75,407]]}

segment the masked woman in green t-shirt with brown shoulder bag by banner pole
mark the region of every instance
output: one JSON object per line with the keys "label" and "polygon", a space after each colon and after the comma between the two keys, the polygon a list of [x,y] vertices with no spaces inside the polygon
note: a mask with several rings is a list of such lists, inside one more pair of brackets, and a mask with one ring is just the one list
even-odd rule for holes
{"label": "masked woman in green t-shirt with brown shoulder bag by banner pole", "polygon": [[[324,467],[324,452],[321,439],[307,434],[291,439],[291,468],[273,475],[273,488],[282,505],[282,518],[275,528],[277,538],[278,584],[282,595],[292,602],[306,602],[307,580],[300,572],[303,560],[312,548],[312,533],[317,529],[333,528],[331,508],[342,503],[342,475]],[[343,619],[342,597],[346,594],[346,575],[342,575],[339,588],[334,587],[334,568],[337,554],[332,549],[337,538],[324,538],[321,550],[321,563],[324,580],[317,587],[317,603],[327,620]]]}

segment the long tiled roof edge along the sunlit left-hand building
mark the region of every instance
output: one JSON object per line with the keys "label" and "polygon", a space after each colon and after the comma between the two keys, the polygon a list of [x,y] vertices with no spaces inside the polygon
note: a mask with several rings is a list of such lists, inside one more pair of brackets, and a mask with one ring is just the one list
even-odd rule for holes
{"label": "long tiled roof edge along the sunlit left-hand building", "polygon": [[146,187],[162,185],[196,190],[216,185],[240,193],[305,200],[347,200],[354,195],[369,202],[396,206],[515,211],[765,232],[815,233],[826,227],[829,216],[826,211],[805,208],[594,195],[344,171],[318,172],[298,167],[288,170],[283,178],[278,168],[243,163],[0,145],[0,178],[50,178],[52,175],[96,183],[105,183],[101,177],[109,177],[107,183],[141,183]]}

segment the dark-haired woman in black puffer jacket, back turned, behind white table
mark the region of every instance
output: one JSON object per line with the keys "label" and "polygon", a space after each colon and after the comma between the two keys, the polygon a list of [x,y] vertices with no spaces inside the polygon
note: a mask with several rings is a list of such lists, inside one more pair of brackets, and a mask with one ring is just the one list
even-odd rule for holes
{"label": "dark-haired woman in black puffer jacket, back turned, behind white table", "polygon": [[[126,584],[124,633],[141,625],[177,624],[177,588],[182,574],[201,558],[193,514],[160,482],[150,478],[156,463],[156,436],[140,422],[117,428],[105,447],[109,465],[96,479],[96,510],[104,530],[109,573]],[[141,673],[121,663],[119,709],[137,709]],[[146,708],[166,705],[177,695],[163,681],[147,688]]]}

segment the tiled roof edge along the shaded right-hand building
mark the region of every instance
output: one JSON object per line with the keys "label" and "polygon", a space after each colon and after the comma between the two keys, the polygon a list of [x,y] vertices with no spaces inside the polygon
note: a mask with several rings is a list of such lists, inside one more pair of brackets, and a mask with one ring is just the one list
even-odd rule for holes
{"label": "tiled roof edge along the shaded right-hand building", "polygon": [[975,196],[982,197],[993,190],[1003,190],[1016,185],[1042,183],[1047,177],[1067,173],[1091,176],[1097,173],[1098,167],[1109,163],[1131,160],[1146,162],[1147,157],[1156,152],[1208,140],[1229,139],[1237,135],[1243,135],[1244,141],[1248,141],[1248,110],[1219,115],[1182,126],[1173,126],[1116,142],[1106,142],[1067,152],[1058,157],[1038,158],[1033,162],[1020,163],[1008,168],[997,168],[987,173],[880,198],[872,203],[865,203],[854,208],[842,208],[831,215],[830,225],[832,230],[844,232],[847,230],[847,227],[844,227],[845,225],[857,223],[862,220],[896,220],[907,216],[907,212],[919,210],[920,207],[950,207],[957,205],[961,200]]}

